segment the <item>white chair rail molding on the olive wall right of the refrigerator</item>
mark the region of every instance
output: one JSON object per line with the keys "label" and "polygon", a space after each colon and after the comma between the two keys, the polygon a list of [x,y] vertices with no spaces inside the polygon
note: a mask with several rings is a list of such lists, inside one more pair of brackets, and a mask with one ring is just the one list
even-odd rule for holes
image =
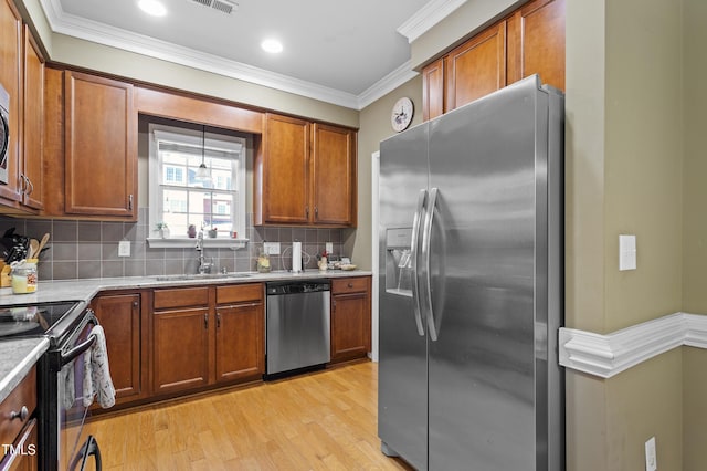
{"label": "white chair rail molding on the olive wall right of the refrigerator", "polygon": [[560,365],[601,378],[679,346],[707,348],[707,315],[675,313],[608,335],[560,328]]}

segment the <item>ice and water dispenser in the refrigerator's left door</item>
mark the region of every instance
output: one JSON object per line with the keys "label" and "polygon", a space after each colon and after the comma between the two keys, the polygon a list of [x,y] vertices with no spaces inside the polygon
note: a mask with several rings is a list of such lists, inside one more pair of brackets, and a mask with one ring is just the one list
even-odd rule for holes
{"label": "ice and water dispenser in the refrigerator's left door", "polygon": [[386,292],[412,297],[412,228],[386,231]]}

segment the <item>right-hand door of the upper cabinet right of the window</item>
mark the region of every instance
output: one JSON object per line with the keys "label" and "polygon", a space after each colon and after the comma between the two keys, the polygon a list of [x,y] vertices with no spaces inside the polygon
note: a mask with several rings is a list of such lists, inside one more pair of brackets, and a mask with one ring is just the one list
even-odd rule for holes
{"label": "right-hand door of the upper cabinet right of the window", "polygon": [[313,136],[313,221],[355,226],[356,133],[315,124]]}

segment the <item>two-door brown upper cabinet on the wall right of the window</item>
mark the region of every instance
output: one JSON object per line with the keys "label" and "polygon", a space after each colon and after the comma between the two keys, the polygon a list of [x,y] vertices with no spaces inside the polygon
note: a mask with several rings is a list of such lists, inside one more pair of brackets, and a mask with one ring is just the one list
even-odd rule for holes
{"label": "two-door brown upper cabinet on the wall right of the window", "polygon": [[356,226],[356,132],[267,114],[255,157],[255,224]]}

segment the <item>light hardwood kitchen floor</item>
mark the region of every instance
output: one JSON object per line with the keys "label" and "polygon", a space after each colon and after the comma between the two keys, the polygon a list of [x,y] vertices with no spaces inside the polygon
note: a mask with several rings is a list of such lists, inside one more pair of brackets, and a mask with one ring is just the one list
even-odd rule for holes
{"label": "light hardwood kitchen floor", "polygon": [[86,427],[105,470],[410,470],[380,452],[377,389],[365,362]]}

